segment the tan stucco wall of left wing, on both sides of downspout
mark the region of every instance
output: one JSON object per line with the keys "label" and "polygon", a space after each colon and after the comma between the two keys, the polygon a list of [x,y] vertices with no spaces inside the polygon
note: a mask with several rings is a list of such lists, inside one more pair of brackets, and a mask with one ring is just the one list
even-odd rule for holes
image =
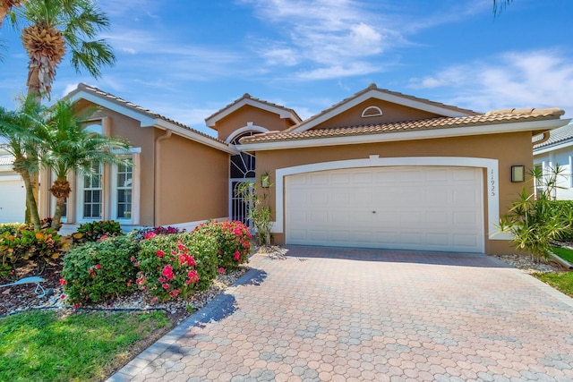
{"label": "tan stucco wall of left wing, on both sides of downspout", "polygon": [[[90,103],[79,102],[79,110],[86,106]],[[102,124],[102,118],[106,118],[104,124],[109,126],[110,135],[123,137],[133,148],[141,149],[139,225],[172,225],[228,215],[227,153],[175,133],[156,144],[156,139],[166,133],[164,130],[141,127],[140,122],[105,108],[92,115],[87,124]],[[154,186],[156,147],[157,190]],[[45,204],[49,205],[49,201]]]}

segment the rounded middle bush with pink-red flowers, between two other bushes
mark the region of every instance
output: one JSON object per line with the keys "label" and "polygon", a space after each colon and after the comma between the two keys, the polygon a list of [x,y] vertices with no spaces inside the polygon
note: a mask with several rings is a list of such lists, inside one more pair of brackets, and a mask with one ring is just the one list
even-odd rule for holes
{"label": "rounded middle bush with pink-red flowers, between two other bushes", "polygon": [[217,242],[210,235],[154,235],[140,248],[137,284],[161,300],[205,290],[217,276]]}

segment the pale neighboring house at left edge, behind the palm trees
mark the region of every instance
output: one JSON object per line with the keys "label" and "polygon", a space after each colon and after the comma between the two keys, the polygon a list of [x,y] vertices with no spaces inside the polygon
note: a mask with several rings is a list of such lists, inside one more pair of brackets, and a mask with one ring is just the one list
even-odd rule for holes
{"label": "pale neighboring house at left edge, behind the palm trees", "polygon": [[26,192],[21,176],[13,171],[13,160],[0,141],[0,223],[24,220]]}

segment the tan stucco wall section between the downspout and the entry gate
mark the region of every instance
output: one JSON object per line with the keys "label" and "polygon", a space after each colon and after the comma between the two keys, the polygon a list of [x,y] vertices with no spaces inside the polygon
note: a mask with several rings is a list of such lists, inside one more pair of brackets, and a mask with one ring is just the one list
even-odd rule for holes
{"label": "tan stucco wall section between the downspout and the entry gate", "polygon": [[229,155],[175,134],[159,145],[157,224],[228,216]]}

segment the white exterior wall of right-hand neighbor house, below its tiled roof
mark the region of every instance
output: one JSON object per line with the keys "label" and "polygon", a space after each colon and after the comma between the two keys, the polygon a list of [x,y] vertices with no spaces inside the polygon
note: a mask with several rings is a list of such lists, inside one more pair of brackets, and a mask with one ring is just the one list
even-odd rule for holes
{"label": "white exterior wall of right-hand neighbor house, below its tiled roof", "polygon": [[558,177],[558,188],[553,197],[573,199],[573,142],[560,145],[560,148],[543,151],[539,154],[534,152],[534,166],[541,166],[543,174],[546,175],[551,174],[557,165],[563,170]]}

